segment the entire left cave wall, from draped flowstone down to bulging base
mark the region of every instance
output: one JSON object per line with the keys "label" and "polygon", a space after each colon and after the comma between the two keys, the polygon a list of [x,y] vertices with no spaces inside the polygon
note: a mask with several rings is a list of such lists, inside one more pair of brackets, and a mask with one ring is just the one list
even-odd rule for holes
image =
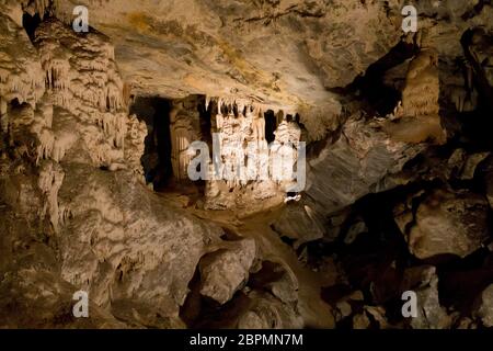
{"label": "entire left cave wall, from draped flowstone down to bulging base", "polygon": [[[23,30],[11,33],[28,41]],[[2,252],[19,248],[2,264],[2,324],[126,326],[115,315],[129,326],[181,326],[179,308],[188,282],[202,256],[221,241],[222,230],[171,210],[145,186],[139,165],[145,127],[123,113],[122,84],[106,39],[90,34],[78,42],[53,19],[36,33],[43,65],[34,67],[44,68],[50,90],[37,104],[39,99],[2,90],[2,99],[31,103],[10,107],[9,138],[15,143],[2,152]],[[19,55],[31,57],[28,50]],[[91,56],[84,60],[84,55]],[[37,86],[22,89],[35,97]],[[8,220],[15,216],[25,223]],[[30,244],[33,239],[36,245]],[[26,261],[33,253],[24,248],[41,256]],[[87,291],[95,306],[91,321],[71,315],[77,290]],[[37,295],[46,296],[44,303],[30,301]],[[19,317],[9,315],[12,308]]]}

